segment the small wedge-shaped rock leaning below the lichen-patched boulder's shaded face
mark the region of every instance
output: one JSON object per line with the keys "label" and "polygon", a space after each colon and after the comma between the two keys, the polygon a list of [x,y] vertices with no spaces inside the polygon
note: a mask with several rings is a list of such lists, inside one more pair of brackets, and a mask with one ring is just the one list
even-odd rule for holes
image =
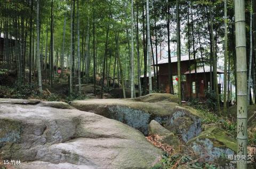
{"label": "small wedge-shaped rock leaning below the lichen-patched boulder's shaded face", "polygon": [[178,148],[180,145],[179,137],[164,128],[155,120],[151,120],[151,122],[149,123],[148,132],[149,135],[157,134],[162,143],[169,144],[170,146],[173,146],[174,149]]}

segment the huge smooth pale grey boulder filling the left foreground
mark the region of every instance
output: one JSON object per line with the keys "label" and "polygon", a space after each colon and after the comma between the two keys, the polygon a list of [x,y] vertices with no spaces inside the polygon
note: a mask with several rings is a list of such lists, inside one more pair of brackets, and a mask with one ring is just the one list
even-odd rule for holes
{"label": "huge smooth pale grey boulder filling the left foreground", "polygon": [[150,168],[161,158],[138,130],[64,104],[0,100],[1,158],[22,169]]}

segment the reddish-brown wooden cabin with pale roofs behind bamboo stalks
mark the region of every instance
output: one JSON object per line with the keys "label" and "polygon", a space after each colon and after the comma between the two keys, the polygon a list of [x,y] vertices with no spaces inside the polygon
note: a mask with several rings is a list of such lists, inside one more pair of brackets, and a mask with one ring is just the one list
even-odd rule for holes
{"label": "reddish-brown wooden cabin with pale roofs behind bamboo stalks", "polygon": [[[189,73],[189,65],[194,66],[194,58],[189,58],[188,55],[181,55],[180,69],[181,69],[181,98],[182,101],[189,101],[190,92],[191,97],[196,97],[196,92],[198,93],[198,98],[201,101],[206,100],[205,98],[205,90],[210,87],[210,66],[197,67],[195,73],[195,69],[190,70]],[[171,57],[171,73],[173,79],[174,86],[174,94],[178,94],[178,60],[177,57]],[[158,79],[159,79],[159,89],[165,93],[170,93],[169,87],[169,66],[168,66],[168,58],[164,58],[158,61]],[[154,65],[152,65],[154,66]],[[155,65],[156,66],[156,65]],[[223,70],[217,69],[218,74],[223,74]],[[176,77],[175,77],[176,76]],[[151,73],[151,77],[154,80],[154,71]],[[141,76],[141,84],[144,83],[143,75]],[[191,80],[190,80],[191,78]],[[148,79],[148,75],[147,75]],[[148,80],[147,80],[148,85]],[[220,84],[219,84],[220,87]],[[219,90],[220,91],[220,90]]]}

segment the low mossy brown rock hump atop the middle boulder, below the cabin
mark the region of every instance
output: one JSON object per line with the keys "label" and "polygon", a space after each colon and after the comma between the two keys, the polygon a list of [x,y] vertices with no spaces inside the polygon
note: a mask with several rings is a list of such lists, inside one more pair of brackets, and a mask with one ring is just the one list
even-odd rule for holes
{"label": "low mossy brown rock hump atop the middle boulder, below the cabin", "polygon": [[150,102],[150,103],[155,103],[159,101],[167,101],[167,102],[174,102],[174,103],[179,102],[179,98],[177,96],[169,93],[151,93],[151,94],[140,96],[138,98],[127,99],[127,100],[139,101],[139,102]]}

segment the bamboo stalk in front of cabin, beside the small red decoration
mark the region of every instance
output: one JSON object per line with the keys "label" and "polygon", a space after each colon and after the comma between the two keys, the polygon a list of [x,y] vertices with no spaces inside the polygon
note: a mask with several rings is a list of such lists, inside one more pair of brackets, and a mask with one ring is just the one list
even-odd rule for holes
{"label": "bamboo stalk in front of cabin, beside the small red decoration", "polygon": [[177,17],[177,58],[178,58],[178,95],[179,105],[181,106],[181,79],[180,79],[180,9],[179,0],[176,0],[176,17]]}

